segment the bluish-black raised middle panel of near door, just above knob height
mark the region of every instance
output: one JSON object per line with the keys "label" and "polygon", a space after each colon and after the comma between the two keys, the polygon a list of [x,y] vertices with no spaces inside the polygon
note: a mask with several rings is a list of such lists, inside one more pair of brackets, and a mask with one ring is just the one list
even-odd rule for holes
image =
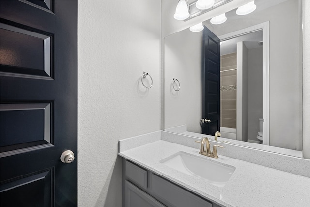
{"label": "bluish-black raised middle panel of near door, just above knob height", "polygon": [[0,104],[0,111],[1,149],[43,140],[51,143],[51,103]]}

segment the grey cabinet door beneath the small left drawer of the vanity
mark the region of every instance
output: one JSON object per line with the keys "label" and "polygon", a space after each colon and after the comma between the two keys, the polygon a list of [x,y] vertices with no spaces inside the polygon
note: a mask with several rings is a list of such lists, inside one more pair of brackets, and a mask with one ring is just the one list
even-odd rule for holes
{"label": "grey cabinet door beneath the small left drawer of the vanity", "polygon": [[126,180],[125,207],[165,207],[165,206]]}

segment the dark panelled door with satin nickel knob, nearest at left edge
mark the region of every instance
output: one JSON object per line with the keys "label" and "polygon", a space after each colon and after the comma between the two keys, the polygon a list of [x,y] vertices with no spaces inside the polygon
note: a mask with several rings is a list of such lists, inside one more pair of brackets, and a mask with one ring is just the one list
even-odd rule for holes
{"label": "dark panelled door with satin nickel knob, nearest at left edge", "polygon": [[77,35],[77,0],[0,1],[1,207],[77,206]]}

